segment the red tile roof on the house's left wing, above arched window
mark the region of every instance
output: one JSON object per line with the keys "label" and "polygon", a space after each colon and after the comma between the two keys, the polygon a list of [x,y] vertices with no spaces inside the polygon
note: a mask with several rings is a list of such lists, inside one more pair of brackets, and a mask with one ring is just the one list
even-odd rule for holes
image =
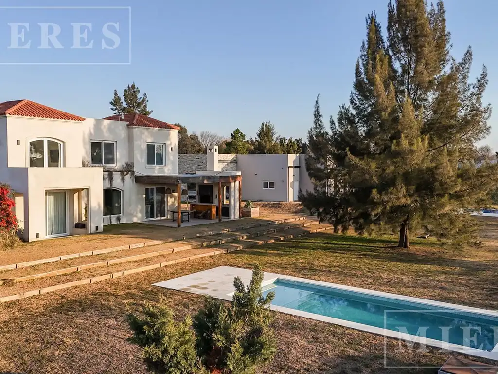
{"label": "red tile roof on the house's left wing, above arched window", "polygon": [[66,113],[29,100],[14,100],[0,103],[0,115],[85,121],[83,117],[75,116],[74,114]]}

